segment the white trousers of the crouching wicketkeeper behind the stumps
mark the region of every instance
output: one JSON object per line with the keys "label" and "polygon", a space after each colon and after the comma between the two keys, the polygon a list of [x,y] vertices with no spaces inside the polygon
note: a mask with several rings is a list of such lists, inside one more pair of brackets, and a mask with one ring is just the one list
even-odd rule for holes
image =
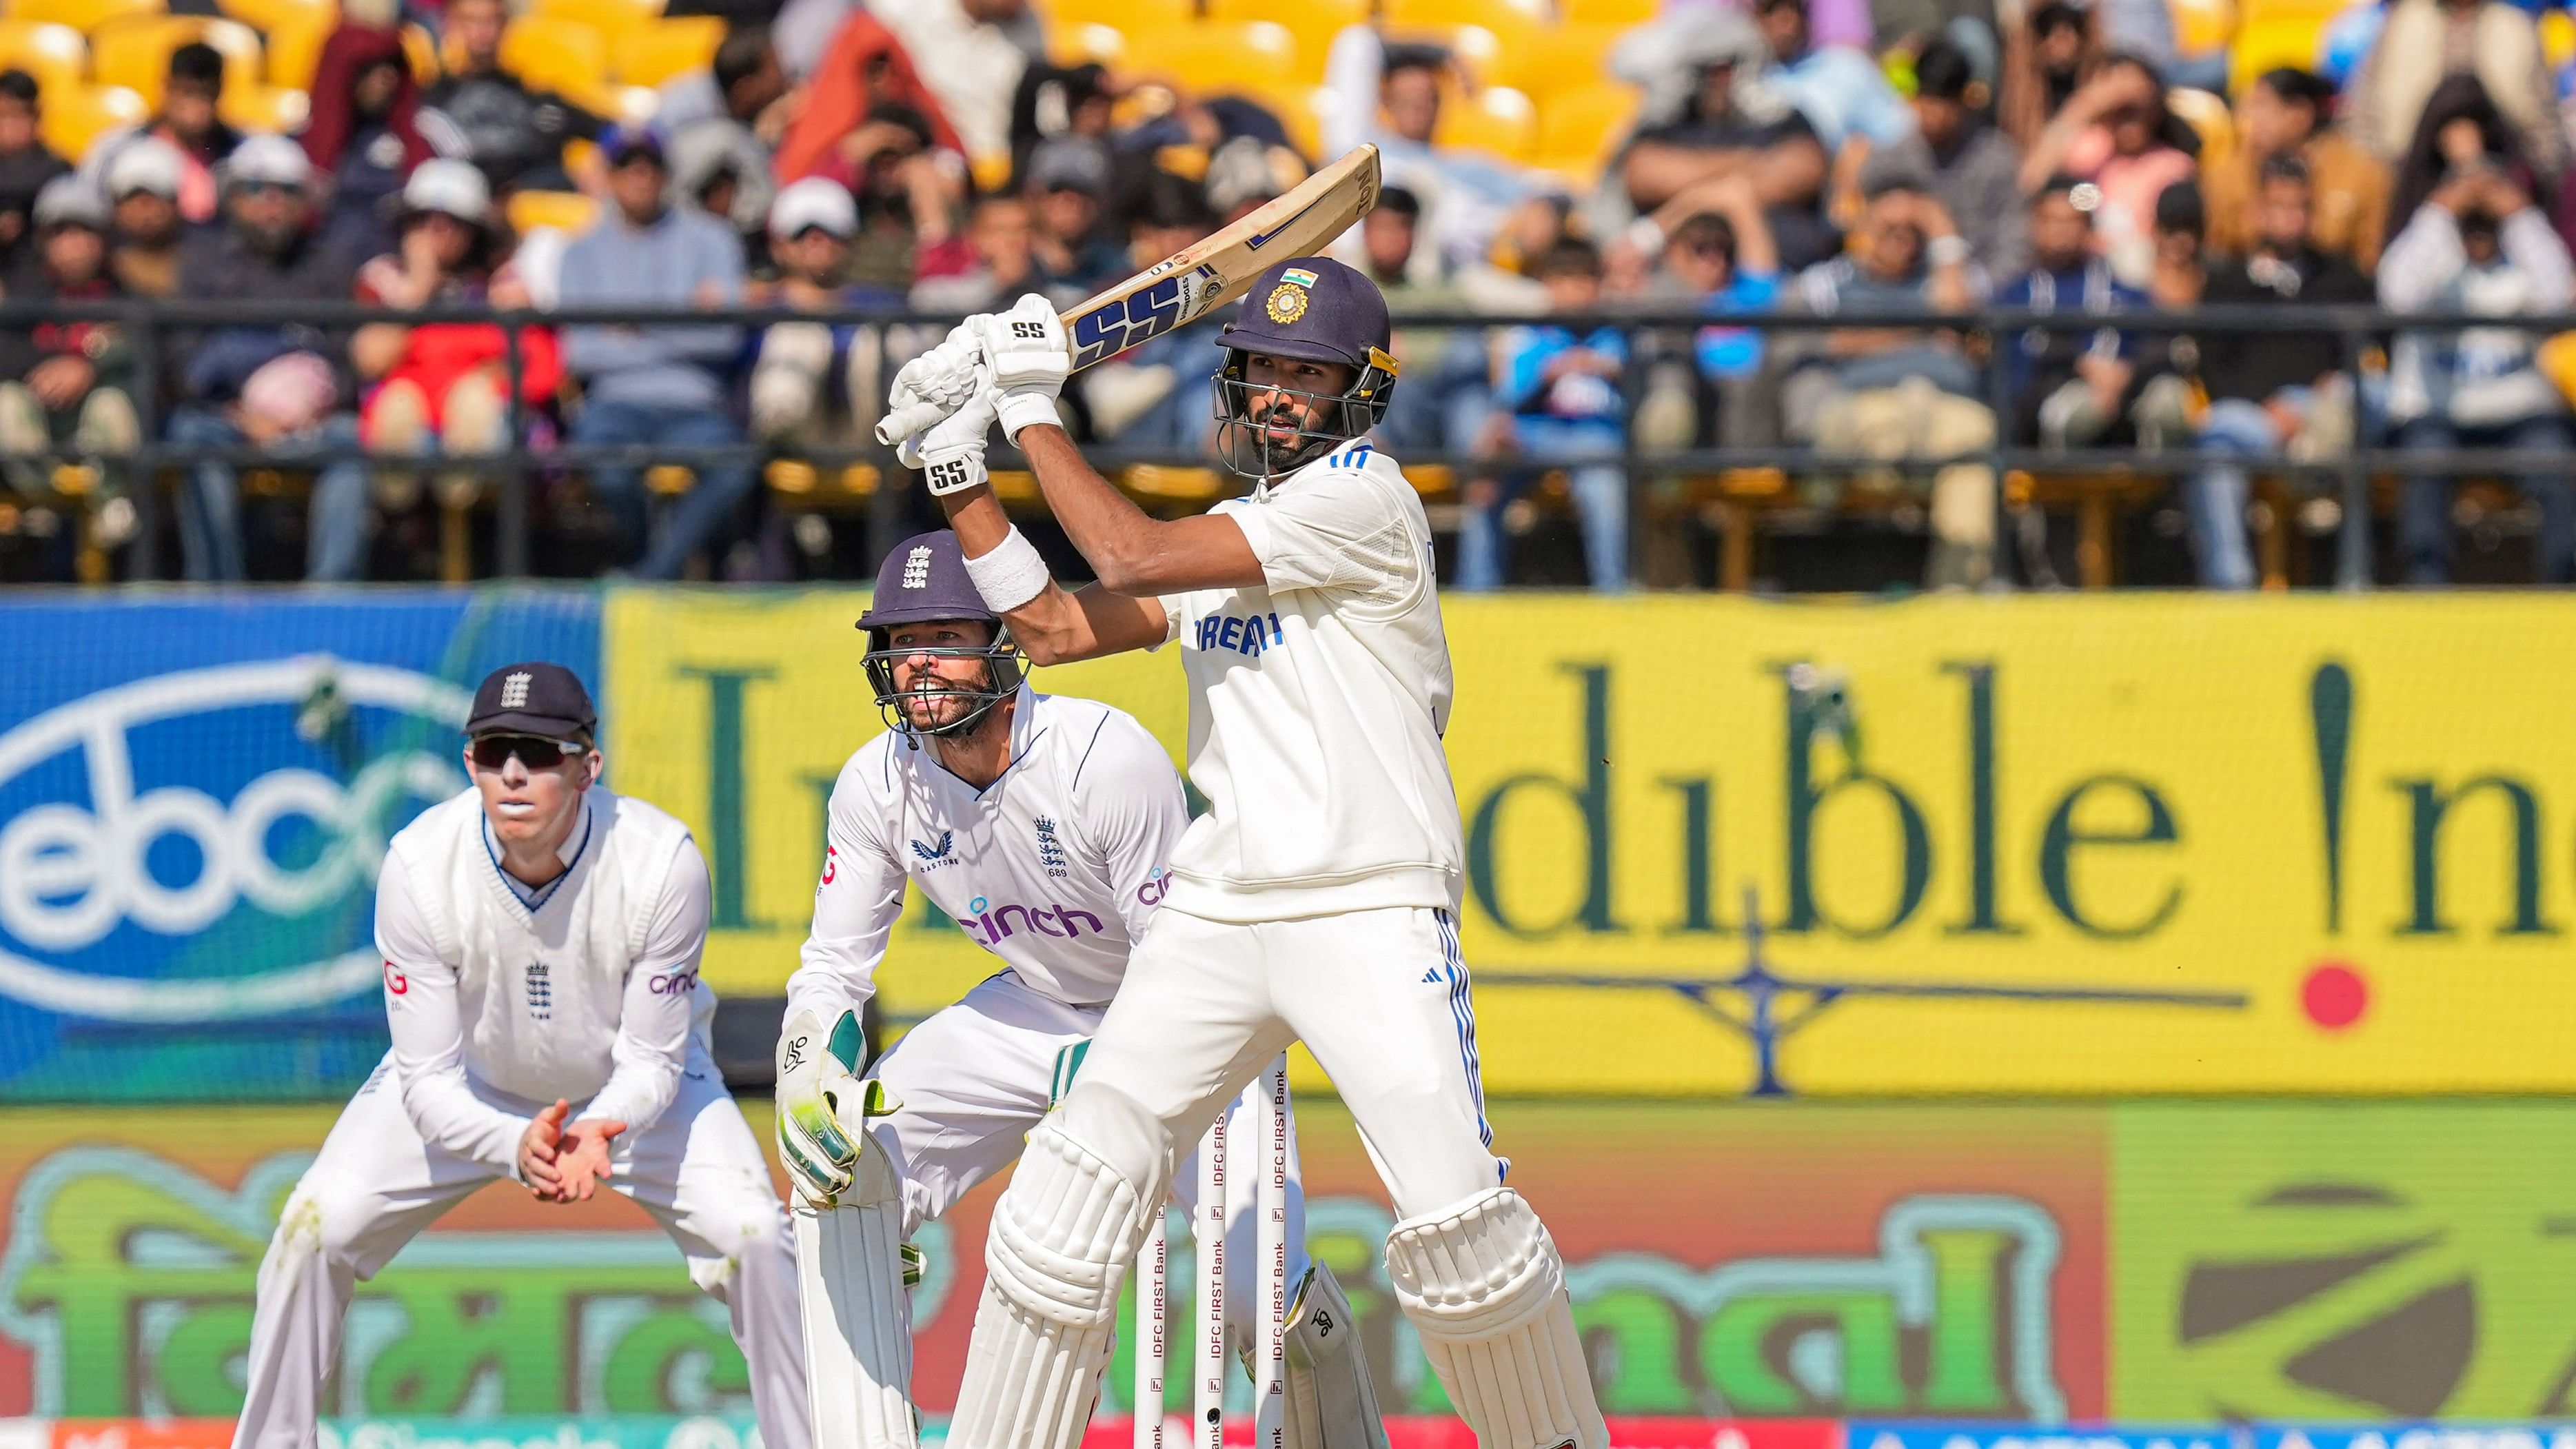
{"label": "white trousers of the crouching wicketkeeper behind the stumps", "polygon": [[[956,1207],[979,1181],[1020,1160],[1030,1129],[1051,1106],[1056,1057],[1087,1042],[1100,1029],[1100,1013],[1097,1006],[1066,1006],[1033,990],[1015,972],[999,972],[907,1031],[868,1067],[896,1104],[894,1114],[878,1119],[868,1134],[904,1178],[907,1240],[922,1222]],[[1090,1075],[1090,1060],[1082,1073]],[[1208,1116],[1213,1122],[1216,1114]],[[1244,1142],[1239,1152],[1247,1152],[1234,1160],[1252,1163],[1249,1142],[1260,1137],[1247,1104],[1234,1106],[1229,1129]],[[1172,1178],[1172,1194],[1185,1209],[1198,1204],[1198,1173],[1188,1165],[1195,1160],[1195,1152],[1182,1158],[1185,1165]],[[1236,1178],[1252,1183],[1255,1173],[1242,1168]],[[1255,1194],[1226,1194],[1226,1320],[1247,1343],[1257,1330],[1252,1323],[1260,1271],[1257,1222]],[[1306,1189],[1291,1119],[1288,1281],[1303,1276]]]}

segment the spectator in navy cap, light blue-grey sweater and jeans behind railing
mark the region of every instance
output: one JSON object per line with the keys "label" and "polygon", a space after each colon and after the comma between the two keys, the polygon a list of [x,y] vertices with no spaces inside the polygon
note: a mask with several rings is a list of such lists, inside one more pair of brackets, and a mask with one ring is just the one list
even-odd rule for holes
{"label": "spectator in navy cap, light blue-grey sweater and jeans behind railing", "polygon": [[[732,227],[665,196],[670,162],[649,126],[613,126],[600,139],[608,199],[600,222],[564,253],[564,307],[732,307],[742,299],[742,242]],[[726,325],[564,330],[564,361],[582,379],[574,446],[739,443],[726,413],[742,335]],[[752,492],[750,464],[690,464],[696,487],[670,511],[647,547],[644,472],[590,469],[590,485],[616,513],[639,578],[680,578]]]}

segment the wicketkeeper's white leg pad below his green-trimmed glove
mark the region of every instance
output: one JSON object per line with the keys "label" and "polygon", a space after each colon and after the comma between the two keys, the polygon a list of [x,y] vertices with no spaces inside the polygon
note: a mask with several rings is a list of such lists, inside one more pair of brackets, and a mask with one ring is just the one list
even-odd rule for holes
{"label": "wicketkeeper's white leg pad below his green-trimmed glove", "polygon": [[796,1279],[814,1444],[912,1449],[912,1302],[904,1297],[904,1209],[873,1140],[840,1207],[799,1204]]}

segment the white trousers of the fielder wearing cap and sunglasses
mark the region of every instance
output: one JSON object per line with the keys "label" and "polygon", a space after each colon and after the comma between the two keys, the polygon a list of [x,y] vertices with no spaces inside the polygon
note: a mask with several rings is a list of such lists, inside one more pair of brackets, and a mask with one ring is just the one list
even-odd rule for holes
{"label": "white trousers of the fielder wearing cap and sunglasses", "polygon": [[[659,1122],[616,1140],[611,1168],[608,1186],[654,1214],[688,1256],[690,1281],[732,1310],[734,1343],[752,1369],[760,1441],[809,1449],[786,1207],[742,1109],[698,1044],[680,1096]],[[487,1163],[422,1142],[402,1111],[392,1055],[376,1065],[286,1196],[268,1240],[250,1325],[250,1392],[232,1449],[314,1449],[322,1382],[340,1366],[340,1320],[355,1284],[492,1181],[502,1178]]]}

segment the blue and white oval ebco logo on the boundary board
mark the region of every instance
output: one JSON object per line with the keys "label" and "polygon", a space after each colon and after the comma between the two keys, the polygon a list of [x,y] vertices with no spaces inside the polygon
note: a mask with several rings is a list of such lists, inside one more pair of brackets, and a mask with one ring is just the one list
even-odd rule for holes
{"label": "blue and white oval ebco logo on the boundary board", "polygon": [[0,735],[0,998],[118,1024],[376,985],[386,838],[464,789],[471,694],[327,655],[139,678]]}

